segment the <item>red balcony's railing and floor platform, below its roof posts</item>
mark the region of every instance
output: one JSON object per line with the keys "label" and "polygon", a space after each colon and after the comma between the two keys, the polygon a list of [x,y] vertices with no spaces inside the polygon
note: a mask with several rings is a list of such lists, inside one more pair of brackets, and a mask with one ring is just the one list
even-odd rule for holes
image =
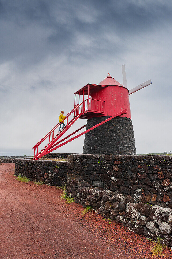
{"label": "red balcony's railing and floor platform, below its roof posts", "polygon": [[[75,105],[77,106],[77,105]],[[81,115],[81,119],[88,119],[94,117],[94,115],[102,115],[105,114],[104,112],[104,101],[96,100],[96,99],[86,99],[84,100],[81,105],[79,105],[74,110],[74,117],[78,116],[78,114],[83,113]]]}

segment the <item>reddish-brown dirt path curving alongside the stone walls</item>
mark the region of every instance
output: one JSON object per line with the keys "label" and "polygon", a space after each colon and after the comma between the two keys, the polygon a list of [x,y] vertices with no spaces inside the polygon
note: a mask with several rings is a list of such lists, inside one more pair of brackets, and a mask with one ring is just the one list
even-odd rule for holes
{"label": "reddish-brown dirt path curving alongside the stone walls", "polygon": [[[151,258],[151,242],[80,204],[64,204],[54,186],[20,183],[0,165],[0,258]],[[109,249],[108,249],[109,248]],[[172,258],[170,248],[160,257]]]}

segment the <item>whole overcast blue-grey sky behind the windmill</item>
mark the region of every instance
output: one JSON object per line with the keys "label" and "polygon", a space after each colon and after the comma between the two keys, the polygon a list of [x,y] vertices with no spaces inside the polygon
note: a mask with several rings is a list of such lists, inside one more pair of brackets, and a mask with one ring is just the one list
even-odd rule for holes
{"label": "whole overcast blue-grey sky behind the windmill", "polygon": [[137,153],[172,151],[171,17],[171,0],[0,0],[0,152],[31,155],[76,90],[123,84],[123,64],[129,89],[152,80],[130,95]]}

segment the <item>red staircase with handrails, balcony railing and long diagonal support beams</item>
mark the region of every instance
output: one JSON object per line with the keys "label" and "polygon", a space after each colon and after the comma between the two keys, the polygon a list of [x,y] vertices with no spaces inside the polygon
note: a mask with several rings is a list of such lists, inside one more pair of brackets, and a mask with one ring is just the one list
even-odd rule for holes
{"label": "red staircase with handrails, balcony railing and long diagonal support beams", "polygon": [[[68,122],[69,116],[73,113],[73,118],[70,122]],[[117,116],[121,116],[122,114],[125,114],[126,110],[121,111],[120,113],[115,114],[114,116],[111,116],[110,118],[108,118],[107,120],[104,120],[103,122],[95,125],[94,127],[78,134],[77,136],[74,136],[73,138],[63,142],[65,139],[69,138],[70,136],[72,136],[73,134],[77,133],[79,130],[83,129],[84,127],[86,127],[86,125],[82,126],[81,128],[79,128],[78,130],[74,131],[73,133],[69,134],[68,136],[66,136],[65,138],[61,139],[60,141],[58,141],[56,143],[57,140],[59,140],[59,138],[79,119],[87,119],[89,118],[91,115],[93,116],[93,114],[100,114],[103,115],[104,114],[104,102],[101,100],[95,100],[95,99],[86,99],[83,100],[83,102],[81,102],[80,104],[75,105],[75,107],[67,114],[66,118],[61,122],[65,122],[66,126],[63,128],[63,131],[60,132],[60,134],[56,134],[55,135],[55,130],[57,131],[58,127],[60,126],[61,123],[58,123],[50,132],[48,132],[44,138],[42,138],[34,147],[34,160],[38,160],[40,157],[54,151],[55,149],[69,143],[70,141],[78,138],[79,136],[93,130],[94,128],[104,124],[105,122],[117,117]],[[55,136],[54,136],[55,135]],[[49,142],[48,144],[38,153],[38,146],[47,138],[49,138]],[[63,143],[62,143],[63,142]],[[59,145],[58,145],[59,144]],[[57,146],[58,145],[58,146]]]}

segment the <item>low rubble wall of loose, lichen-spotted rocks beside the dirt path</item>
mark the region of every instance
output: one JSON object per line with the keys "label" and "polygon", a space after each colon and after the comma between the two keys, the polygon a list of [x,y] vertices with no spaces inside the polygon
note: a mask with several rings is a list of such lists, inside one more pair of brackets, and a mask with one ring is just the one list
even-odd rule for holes
{"label": "low rubble wall of loose, lichen-spotted rocks beside the dirt path", "polygon": [[105,218],[121,222],[140,235],[154,240],[160,236],[161,244],[172,246],[172,209],[137,203],[135,198],[119,191],[93,188],[81,177],[70,181],[67,190],[82,206],[90,205]]}

